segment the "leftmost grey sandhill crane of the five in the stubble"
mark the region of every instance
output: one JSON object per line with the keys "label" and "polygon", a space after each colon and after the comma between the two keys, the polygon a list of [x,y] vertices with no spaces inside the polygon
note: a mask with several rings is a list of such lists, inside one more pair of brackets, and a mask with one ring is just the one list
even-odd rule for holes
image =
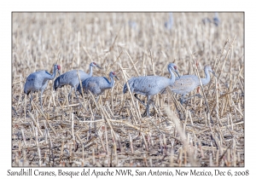
{"label": "leftmost grey sandhill crane of the five in the stubble", "polygon": [[24,85],[24,93],[26,95],[29,95],[29,93],[31,93],[30,94],[31,95],[30,105],[31,105],[31,101],[32,101],[32,93],[39,90],[39,91],[41,91],[40,105],[41,105],[41,109],[43,110],[42,94],[48,84],[48,80],[52,80],[55,78],[56,70],[58,70],[58,72],[60,74],[61,66],[55,65],[54,72],[52,75],[49,74],[49,72],[42,70],[42,71],[38,71],[38,72],[33,72],[26,78],[26,84]]}

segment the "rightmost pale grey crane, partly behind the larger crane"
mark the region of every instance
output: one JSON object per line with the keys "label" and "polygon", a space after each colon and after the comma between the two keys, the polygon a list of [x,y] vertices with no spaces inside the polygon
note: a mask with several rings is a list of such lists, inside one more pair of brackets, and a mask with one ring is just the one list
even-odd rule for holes
{"label": "rightmost pale grey crane, partly behind the larger crane", "polygon": [[[213,72],[211,66],[209,65],[205,66],[204,71],[206,74],[206,78],[201,78],[202,85],[206,85],[210,82],[211,78],[210,78],[209,72],[212,72],[212,74],[216,77],[216,74],[215,72]],[[187,95],[190,91],[195,90],[195,88],[199,85],[200,85],[199,78],[196,75],[183,75],[175,79],[175,82],[170,86],[170,89],[174,93],[182,95],[180,102],[181,104],[183,104],[183,101],[187,101],[191,97],[194,97],[195,95],[187,98],[186,100],[184,100],[184,96]],[[201,95],[198,95],[198,96],[201,96]]]}

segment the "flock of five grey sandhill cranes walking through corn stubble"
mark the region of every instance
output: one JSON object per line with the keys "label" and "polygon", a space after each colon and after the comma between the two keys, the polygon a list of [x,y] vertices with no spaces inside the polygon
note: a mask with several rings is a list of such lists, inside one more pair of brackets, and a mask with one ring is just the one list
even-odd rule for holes
{"label": "flock of five grey sandhill cranes walking through corn stubble", "polygon": [[[79,76],[82,82],[81,83],[82,87],[80,85],[80,81],[77,73],[78,71],[76,70],[65,72],[61,74],[58,78],[55,78],[55,75],[57,70],[60,74],[61,66],[59,65],[54,66],[54,72],[52,75],[49,74],[49,72],[47,71],[33,72],[26,78],[24,93],[26,95],[31,94],[31,98],[30,98],[30,103],[31,103],[32,93],[36,91],[40,91],[41,92],[40,105],[41,105],[41,108],[43,109],[42,94],[48,84],[48,81],[53,80],[55,78],[54,85],[53,85],[54,90],[57,90],[58,88],[61,88],[64,85],[70,85],[72,87],[71,90],[69,91],[68,99],[70,98],[70,94],[72,90],[75,90],[75,95],[77,96],[78,100],[79,100],[79,96],[77,95],[77,90],[79,91],[80,95],[83,94],[82,90],[84,94],[88,94],[88,91],[90,90],[90,92],[93,95],[96,95],[98,99],[98,96],[102,95],[102,93],[105,90],[113,88],[113,85],[114,85],[113,78],[117,78],[118,80],[119,78],[116,76],[115,72],[109,72],[110,81],[106,77],[92,77],[93,67],[101,68],[95,62],[92,62],[90,63],[89,74],[79,70]],[[134,96],[137,98],[137,100],[140,101],[143,104],[143,106],[147,108],[146,111],[147,111],[148,117],[150,116],[149,101],[152,95],[162,93],[163,91],[166,90],[166,87],[170,87],[170,89],[174,93],[182,95],[180,102],[183,104],[183,101],[186,101],[189,99],[189,98],[184,99],[184,96],[187,95],[190,91],[195,90],[195,88],[200,85],[199,80],[201,80],[202,85],[206,85],[210,82],[209,72],[212,72],[212,74],[216,76],[215,72],[213,72],[212,70],[212,67],[208,65],[205,66],[204,68],[206,78],[200,78],[200,79],[195,75],[180,76],[177,72],[177,66],[174,63],[170,63],[167,66],[167,69],[171,74],[171,78],[166,78],[161,76],[133,77],[128,80],[127,84],[124,85],[123,93],[125,94],[128,90],[131,90],[131,93],[134,93]],[[175,76],[174,72],[177,74],[177,77]],[[148,99],[147,105],[144,104],[144,102],[137,97],[137,94],[147,96],[147,99]],[[31,107],[30,107],[30,110],[31,110]]]}

